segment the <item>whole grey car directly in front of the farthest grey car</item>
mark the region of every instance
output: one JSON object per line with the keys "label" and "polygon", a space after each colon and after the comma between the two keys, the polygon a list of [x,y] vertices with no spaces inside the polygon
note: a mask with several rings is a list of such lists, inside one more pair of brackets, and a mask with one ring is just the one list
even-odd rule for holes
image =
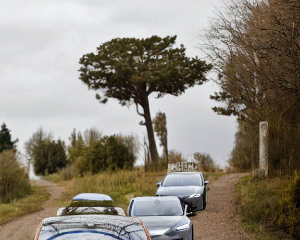
{"label": "whole grey car directly in front of the farthest grey car", "polygon": [[139,217],[152,240],[192,240],[193,224],[185,215],[178,197],[136,197],[131,199],[128,216]]}

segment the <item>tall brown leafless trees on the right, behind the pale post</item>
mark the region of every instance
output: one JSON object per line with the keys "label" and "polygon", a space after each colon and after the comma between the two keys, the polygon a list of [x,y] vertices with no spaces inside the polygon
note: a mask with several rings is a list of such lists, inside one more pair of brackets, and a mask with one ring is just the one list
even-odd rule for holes
{"label": "tall brown leafless trees on the right, behind the pale post", "polygon": [[269,124],[269,175],[300,169],[300,1],[228,1],[211,21],[203,49],[219,72],[212,99],[238,116],[229,164],[258,167],[259,122]]}

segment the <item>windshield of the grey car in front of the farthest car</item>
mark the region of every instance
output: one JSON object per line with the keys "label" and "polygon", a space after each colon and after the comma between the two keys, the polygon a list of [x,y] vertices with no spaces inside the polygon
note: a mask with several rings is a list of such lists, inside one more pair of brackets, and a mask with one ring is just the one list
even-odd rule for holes
{"label": "windshield of the grey car in front of the farthest car", "polygon": [[136,200],[132,206],[132,216],[173,216],[182,215],[182,205],[178,200]]}

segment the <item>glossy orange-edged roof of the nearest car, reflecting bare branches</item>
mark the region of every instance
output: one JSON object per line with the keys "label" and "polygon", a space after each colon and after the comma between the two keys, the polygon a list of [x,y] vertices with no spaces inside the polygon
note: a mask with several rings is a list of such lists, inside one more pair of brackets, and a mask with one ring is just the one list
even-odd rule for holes
{"label": "glossy orange-edged roof of the nearest car, reflecting bare branches", "polygon": [[119,240],[146,240],[148,237],[137,217],[91,214],[47,217],[42,221],[37,234],[38,239],[52,239],[74,232],[100,233]]}

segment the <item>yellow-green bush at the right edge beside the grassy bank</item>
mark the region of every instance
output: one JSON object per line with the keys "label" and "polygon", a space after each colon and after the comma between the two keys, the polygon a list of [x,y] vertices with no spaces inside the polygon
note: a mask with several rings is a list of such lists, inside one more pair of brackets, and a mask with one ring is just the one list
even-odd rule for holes
{"label": "yellow-green bush at the right edge beside the grassy bank", "polygon": [[292,237],[300,239],[300,171],[289,182],[287,193],[280,201],[278,225]]}

